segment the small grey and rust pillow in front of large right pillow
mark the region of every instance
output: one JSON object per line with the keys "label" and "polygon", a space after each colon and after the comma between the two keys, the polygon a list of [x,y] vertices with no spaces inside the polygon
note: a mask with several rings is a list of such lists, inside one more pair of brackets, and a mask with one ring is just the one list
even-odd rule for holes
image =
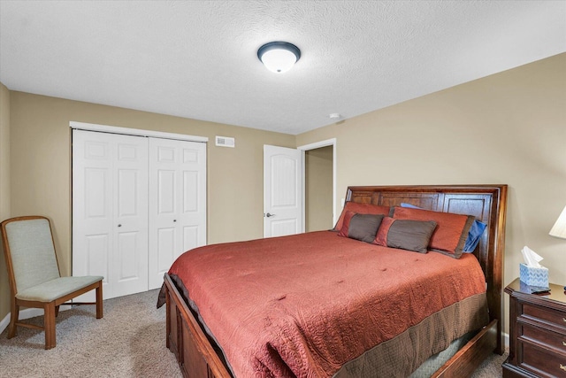
{"label": "small grey and rust pillow in front of large right pillow", "polygon": [[373,243],[426,253],[434,228],[436,222],[432,220],[395,220],[386,217],[381,221]]}

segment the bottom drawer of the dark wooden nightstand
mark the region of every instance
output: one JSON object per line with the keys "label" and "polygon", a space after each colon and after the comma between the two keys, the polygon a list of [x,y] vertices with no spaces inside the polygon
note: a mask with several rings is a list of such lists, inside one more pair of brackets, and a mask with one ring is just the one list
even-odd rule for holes
{"label": "bottom drawer of the dark wooden nightstand", "polygon": [[523,343],[523,361],[519,366],[541,376],[566,376],[566,356]]}

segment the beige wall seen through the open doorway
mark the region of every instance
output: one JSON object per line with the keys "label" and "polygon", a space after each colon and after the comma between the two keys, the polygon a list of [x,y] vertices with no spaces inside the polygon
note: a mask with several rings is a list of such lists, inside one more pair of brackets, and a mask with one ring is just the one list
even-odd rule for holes
{"label": "beige wall seen through the open doorway", "polygon": [[305,230],[333,228],[333,146],[307,150],[305,162]]}

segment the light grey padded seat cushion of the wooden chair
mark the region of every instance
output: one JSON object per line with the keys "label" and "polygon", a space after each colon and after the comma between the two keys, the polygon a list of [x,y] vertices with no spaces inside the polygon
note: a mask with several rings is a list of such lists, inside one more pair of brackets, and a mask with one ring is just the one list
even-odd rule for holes
{"label": "light grey padded seat cushion of the wooden chair", "polygon": [[27,301],[51,302],[102,279],[103,277],[98,275],[59,277],[55,280],[43,282],[39,285],[19,291],[16,297]]}

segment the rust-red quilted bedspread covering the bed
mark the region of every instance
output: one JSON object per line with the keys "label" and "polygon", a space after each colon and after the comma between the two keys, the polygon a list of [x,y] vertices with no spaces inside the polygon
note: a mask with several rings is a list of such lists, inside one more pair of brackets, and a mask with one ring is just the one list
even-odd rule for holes
{"label": "rust-red quilted bedspread covering the bed", "polygon": [[412,330],[435,316],[461,323],[443,330],[447,343],[487,322],[483,299],[474,300],[481,311],[455,312],[464,298],[485,298],[473,255],[395,250],[330,231],[196,248],[169,273],[242,378],[333,376],[380,343],[414,339]]}

